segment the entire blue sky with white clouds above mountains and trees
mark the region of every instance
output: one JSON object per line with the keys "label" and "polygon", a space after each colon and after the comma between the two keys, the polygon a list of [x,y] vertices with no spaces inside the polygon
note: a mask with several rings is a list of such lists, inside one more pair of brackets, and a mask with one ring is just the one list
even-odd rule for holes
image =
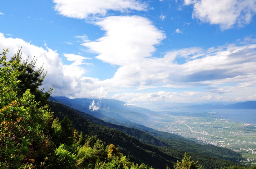
{"label": "entire blue sky with white clouds above mountains and trees", "polygon": [[37,57],[53,96],[256,100],[255,13],[256,0],[2,1],[0,46]]}

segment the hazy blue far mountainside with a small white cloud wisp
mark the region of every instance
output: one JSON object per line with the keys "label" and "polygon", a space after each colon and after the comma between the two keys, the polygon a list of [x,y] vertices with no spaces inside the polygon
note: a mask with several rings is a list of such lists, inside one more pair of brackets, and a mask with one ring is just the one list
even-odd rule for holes
{"label": "hazy blue far mountainside with a small white cloud wisp", "polygon": [[147,112],[147,114],[151,114],[154,112],[144,109],[143,113],[141,113],[140,111],[143,108],[126,106],[125,102],[119,100],[87,98],[69,99],[66,97],[54,97],[54,99],[68,107],[86,112],[101,119],[104,118],[107,120],[111,118],[129,124],[143,124],[144,126],[150,126],[150,124],[153,123],[153,119],[144,113]]}

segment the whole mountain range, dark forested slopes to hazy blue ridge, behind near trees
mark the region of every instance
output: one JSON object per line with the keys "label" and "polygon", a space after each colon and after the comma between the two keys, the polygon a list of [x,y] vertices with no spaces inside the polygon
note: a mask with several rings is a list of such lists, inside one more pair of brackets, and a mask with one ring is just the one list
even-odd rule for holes
{"label": "whole mountain range, dark forested slopes to hazy blue ridge, behind near trees", "polygon": [[[154,130],[153,112],[109,99],[69,99],[51,97],[50,107],[54,117],[64,116],[74,127],[87,135],[96,135],[107,144],[115,144],[135,162],[155,168],[172,166],[188,152],[204,168],[237,165],[241,154],[227,148],[203,145],[175,134]],[[61,104],[62,103],[62,104]]]}

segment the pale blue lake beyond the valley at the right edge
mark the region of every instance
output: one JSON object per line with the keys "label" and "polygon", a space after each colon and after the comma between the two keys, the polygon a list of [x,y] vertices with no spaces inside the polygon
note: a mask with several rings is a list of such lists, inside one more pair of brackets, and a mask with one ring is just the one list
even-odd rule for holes
{"label": "pale blue lake beyond the valley at the right edge", "polygon": [[220,118],[232,122],[249,123],[256,125],[255,109],[181,109],[170,110],[172,112],[218,112]]}

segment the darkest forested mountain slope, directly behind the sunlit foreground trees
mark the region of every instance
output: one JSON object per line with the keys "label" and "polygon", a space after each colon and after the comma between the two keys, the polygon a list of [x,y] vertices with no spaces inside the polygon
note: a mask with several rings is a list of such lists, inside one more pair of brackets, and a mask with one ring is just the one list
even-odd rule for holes
{"label": "darkest forested mountain slope, directly behind the sunlit foreground trees", "polygon": [[[121,153],[129,155],[135,162],[144,162],[148,166],[155,168],[165,168],[166,164],[172,166],[173,162],[180,160],[185,151],[166,146],[154,146],[140,142],[135,137],[106,126],[97,125],[77,114],[73,109],[60,103],[50,102],[50,107],[54,112],[54,117],[63,119],[64,116],[73,121],[74,127],[88,135],[96,135],[107,144],[114,144],[119,147]],[[209,156],[203,156],[195,153],[189,153],[195,160],[207,168],[220,168],[224,166],[235,165],[237,163],[218,159]],[[210,165],[210,166],[209,166]]]}

